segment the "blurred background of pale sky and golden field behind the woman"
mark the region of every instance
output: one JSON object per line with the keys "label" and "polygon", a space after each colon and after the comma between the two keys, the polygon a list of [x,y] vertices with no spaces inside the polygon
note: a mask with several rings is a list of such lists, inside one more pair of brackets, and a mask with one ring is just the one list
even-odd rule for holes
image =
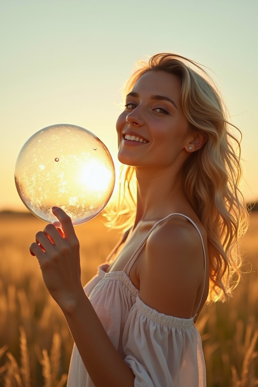
{"label": "blurred background of pale sky and golden field behind the woman", "polygon": [[[73,345],[28,252],[45,223],[28,213],[15,189],[22,145],[49,125],[79,125],[106,144],[118,171],[115,123],[123,82],[137,60],[178,53],[208,67],[222,90],[243,134],[244,198],[254,203],[257,11],[256,0],[0,1],[0,386],[62,387]],[[107,232],[101,216],[76,232],[86,283],[119,233]],[[198,321],[208,387],[258,385],[257,240],[253,212],[243,241],[248,274],[229,303],[205,306]]]}

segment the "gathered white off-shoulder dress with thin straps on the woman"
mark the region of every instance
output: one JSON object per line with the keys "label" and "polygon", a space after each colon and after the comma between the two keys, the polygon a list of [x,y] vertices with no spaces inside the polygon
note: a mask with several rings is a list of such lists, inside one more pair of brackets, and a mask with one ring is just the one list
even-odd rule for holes
{"label": "gathered white off-shoulder dress with thin straps on the woman", "polygon": [[[205,275],[205,249],[198,227],[183,214],[170,214],[154,224],[123,271],[106,273],[104,265],[101,265],[97,275],[85,286],[85,292],[111,342],[132,368],[134,387],[206,386],[202,341],[193,323],[195,316],[181,319],[150,308],[140,299],[139,290],[129,278],[130,269],[152,230],[172,215],[184,216],[198,231]],[[196,310],[201,301],[202,297]],[[73,347],[67,387],[94,387],[76,345]]]}

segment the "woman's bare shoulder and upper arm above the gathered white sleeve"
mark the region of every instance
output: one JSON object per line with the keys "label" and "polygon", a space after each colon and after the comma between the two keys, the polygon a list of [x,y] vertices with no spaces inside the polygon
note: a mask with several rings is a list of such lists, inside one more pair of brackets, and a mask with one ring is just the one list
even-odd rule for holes
{"label": "woman's bare shoulder and upper arm above the gathered white sleeve", "polygon": [[[206,238],[202,225],[198,228]],[[158,312],[190,318],[203,286],[203,248],[198,231],[174,215],[157,226],[139,267],[140,298]]]}

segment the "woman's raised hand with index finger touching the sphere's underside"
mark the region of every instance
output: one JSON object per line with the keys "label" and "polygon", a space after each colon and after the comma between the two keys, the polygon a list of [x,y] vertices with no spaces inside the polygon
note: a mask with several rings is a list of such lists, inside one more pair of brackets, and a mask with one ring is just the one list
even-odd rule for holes
{"label": "woman's raised hand with index finger touching the sphere's underside", "polygon": [[59,207],[52,208],[62,230],[47,224],[36,234],[29,250],[38,258],[44,283],[62,310],[72,310],[82,291],[79,241],[70,217]]}

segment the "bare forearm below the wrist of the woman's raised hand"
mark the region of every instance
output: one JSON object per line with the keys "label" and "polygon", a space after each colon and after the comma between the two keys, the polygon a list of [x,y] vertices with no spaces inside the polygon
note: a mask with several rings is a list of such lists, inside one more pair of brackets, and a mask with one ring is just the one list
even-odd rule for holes
{"label": "bare forearm below the wrist of the woman's raised hand", "polygon": [[131,368],[114,348],[83,288],[76,305],[63,313],[94,385],[133,387]]}

